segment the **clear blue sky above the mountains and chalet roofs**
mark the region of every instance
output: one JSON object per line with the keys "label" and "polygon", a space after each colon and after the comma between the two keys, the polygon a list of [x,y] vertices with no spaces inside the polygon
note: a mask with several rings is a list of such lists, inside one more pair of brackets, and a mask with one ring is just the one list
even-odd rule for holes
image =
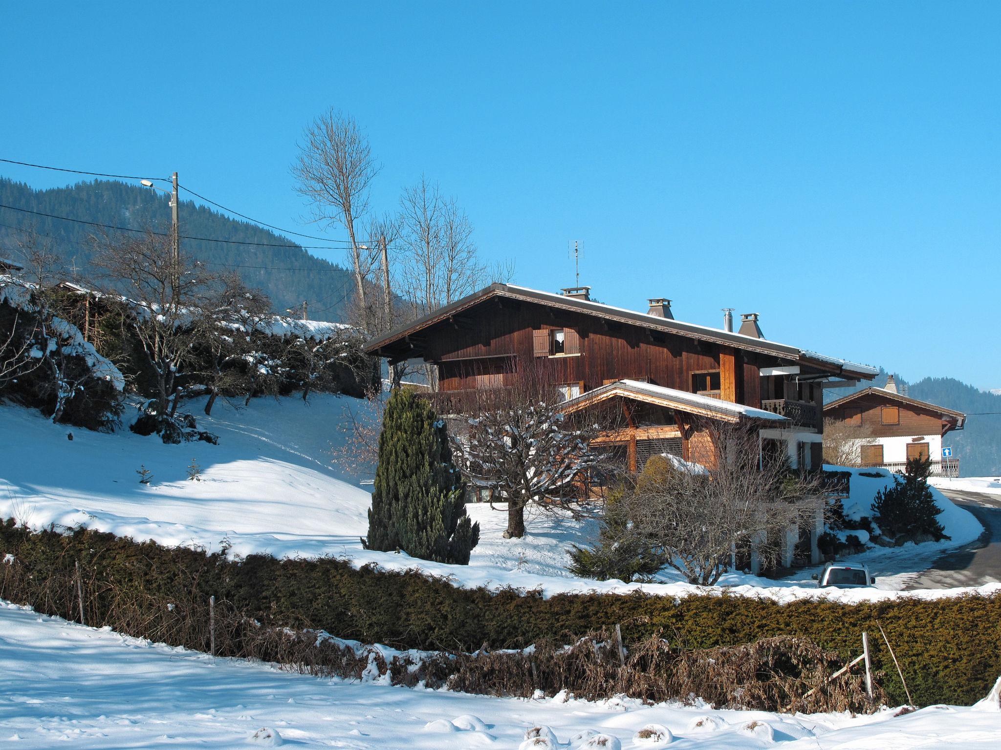
{"label": "clear blue sky above the mountains and chalet roofs", "polygon": [[576,239],[604,302],[998,388],[999,37],[997,3],[7,2],[0,157],[315,233],[288,167],[332,105],[374,208],[426,173],[518,283],[572,285]]}

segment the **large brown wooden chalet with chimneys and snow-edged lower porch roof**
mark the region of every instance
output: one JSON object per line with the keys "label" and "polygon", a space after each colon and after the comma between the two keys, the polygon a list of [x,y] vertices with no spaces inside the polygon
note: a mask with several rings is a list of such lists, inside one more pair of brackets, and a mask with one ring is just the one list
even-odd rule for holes
{"label": "large brown wooden chalet with chimneys and snow-edged lower porch roof", "polygon": [[434,364],[437,392],[428,397],[442,414],[463,413],[477,390],[510,387],[545,359],[568,411],[623,401],[628,425],[596,442],[620,451],[633,471],[657,453],[712,464],[711,440],[698,426],[705,419],[750,423],[764,450],[819,468],[824,388],[877,374],[769,341],[756,314],[734,332],[675,320],[668,299],[651,299],[647,312],[602,304],[590,287],[554,294],[491,284],[373,339],[366,351],[390,363]]}

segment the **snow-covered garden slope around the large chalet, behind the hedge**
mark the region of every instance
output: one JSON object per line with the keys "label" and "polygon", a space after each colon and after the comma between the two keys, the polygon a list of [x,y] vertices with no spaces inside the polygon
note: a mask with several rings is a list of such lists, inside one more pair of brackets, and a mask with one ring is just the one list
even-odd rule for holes
{"label": "snow-covered garden slope around the large chalet, behind the hedge", "polygon": [[[211,418],[198,420],[200,428],[218,434],[217,446],[201,442],[163,445],[156,437],[140,437],[125,428],[115,434],[71,430],[49,423],[36,411],[0,405],[0,444],[4,446],[0,517],[14,517],[34,528],[82,525],[166,545],[217,550],[225,544],[233,555],[336,555],[356,564],[419,567],[452,576],[462,586],[539,588],[547,595],[640,588],[674,596],[702,591],[681,582],[680,575],[671,571],[652,584],[575,578],[566,568],[567,550],[572,543],[590,543],[597,536],[596,522],[579,524],[537,515],[529,519],[524,539],[506,540],[502,538],[506,514],[479,504],[468,506],[469,515],[480,524],[480,542],[468,566],[363,550],[359,537],[367,532],[370,485],[365,482],[370,481],[371,472],[348,475],[331,465],[329,454],[331,442],[342,440],[339,427],[347,410],[356,411],[362,405],[355,399],[324,394],[316,394],[308,404],[296,397],[255,399],[238,411],[219,402]],[[200,407],[200,402],[188,405],[199,415]],[[72,441],[67,439],[69,432]],[[192,459],[202,469],[201,481],[187,479]],[[140,465],[153,475],[148,485],[139,483]],[[866,482],[882,486],[891,481],[889,477],[862,477],[853,487],[862,493],[859,498],[871,498],[874,489]],[[846,510],[859,498],[853,495]],[[945,508],[942,518],[953,536],[951,542],[877,548],[857,556],[880,577],[878,589],[821,591],[813,588],[810,570],[782,581],[729,573],[721,584],[731,593],[779,601],[818,596],[852,602],[894,596],[943,549],[980,534],[980,525],[969,513],[944,497],[939,502]],[[958,591],[920,595],[937,597]]]}

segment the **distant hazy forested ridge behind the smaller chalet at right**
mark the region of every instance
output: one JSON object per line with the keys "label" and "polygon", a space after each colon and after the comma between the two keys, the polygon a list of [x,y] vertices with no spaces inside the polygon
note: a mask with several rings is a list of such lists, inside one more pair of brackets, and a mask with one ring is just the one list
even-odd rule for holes
{"label": "distant hazy forested ridge behind the smaller chalet at right", "polygon": [[[880,368],[879,375],[871,382],[860,383],[856,388],[838,388],[825,391],[825,401],[834,401],[854,391],[869,386],[886,385],[889,373]],[[951,445],[953,455],[959,458],[959,470],[964,477],[1001,475],[1001,394],[981,391],[956,378],[924,378],[908,383],[898,373],[893,374],[898,387],[905,387],[907,395],[928,401],[967,415],[966,427],[950,432],[944,445]]]}

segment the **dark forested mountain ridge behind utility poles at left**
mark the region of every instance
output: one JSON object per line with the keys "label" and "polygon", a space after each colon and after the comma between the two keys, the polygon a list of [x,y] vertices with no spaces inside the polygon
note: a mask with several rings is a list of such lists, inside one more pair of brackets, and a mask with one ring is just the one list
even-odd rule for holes
{"label": "dark forested mountain ridge behind utility poles at left", "polygon": [[[129,229],[168,231],[170,228],[167,195],[111,180],[35,190],[0,177],[0,204]],[[180,221],[182,236],[294,245],[260,247],[182,239],[181,253],[205,262],[214,271],[238,272],[248,285],[267,293],[276,312],[299,308],[305,300],[310,318],[344,319],[353,282],[339,265],[310,255],[286,237],[192,201],[181,200]],[[52,250],[66,259],[67,268],[75,262],[80,279],[90,275],[91,238],[100,235],[100,228],[0,208],[0,257],[18,260],[17,239],[23,235],[17,229],[50,236]]]}

